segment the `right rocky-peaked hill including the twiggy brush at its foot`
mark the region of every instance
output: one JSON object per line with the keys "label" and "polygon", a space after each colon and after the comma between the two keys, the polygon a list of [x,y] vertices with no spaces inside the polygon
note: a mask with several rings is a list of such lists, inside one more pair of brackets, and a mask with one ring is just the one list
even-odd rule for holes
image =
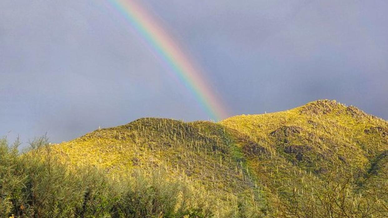
{"label": "right rocky-peaked hill including the twiggy brush at its foot", "polygon": [[320,100],[220,124],[253,142],[242,144],[248,166],[279,199],[282,216],[387,216],[385,120]]}

